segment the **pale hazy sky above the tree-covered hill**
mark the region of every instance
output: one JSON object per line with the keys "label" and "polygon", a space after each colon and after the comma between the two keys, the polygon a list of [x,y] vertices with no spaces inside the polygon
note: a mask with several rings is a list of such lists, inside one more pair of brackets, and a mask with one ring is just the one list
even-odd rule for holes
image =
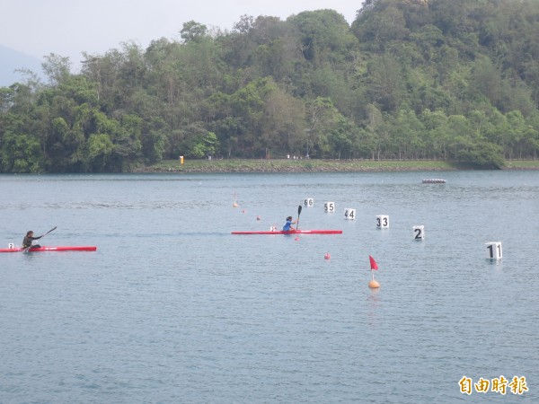
{"label": "pale hazy sky above the tree-covered hill", "polygon": [[103,54],[134,40],[146,48],[162,37],[180,40],[183,22],[230,31],[243,14],[285,20],[332,9],[351,23],[362,0],[0,0],[0,45],[39,57],[56,53],[74,65],[81,53]]}

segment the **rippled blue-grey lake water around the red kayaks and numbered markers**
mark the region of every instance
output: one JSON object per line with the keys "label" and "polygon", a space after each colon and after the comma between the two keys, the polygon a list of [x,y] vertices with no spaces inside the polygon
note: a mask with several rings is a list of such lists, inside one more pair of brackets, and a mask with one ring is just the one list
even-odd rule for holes
{"label": "rippled blue-grey lake water around the red kayaks and numbered markers", "polygon": [[[230,234],[305,198],[343,233]],[[537,171],[3,175],[0,209],[0,248],[98,247],[0,254],[1,403],[539,401]]]}

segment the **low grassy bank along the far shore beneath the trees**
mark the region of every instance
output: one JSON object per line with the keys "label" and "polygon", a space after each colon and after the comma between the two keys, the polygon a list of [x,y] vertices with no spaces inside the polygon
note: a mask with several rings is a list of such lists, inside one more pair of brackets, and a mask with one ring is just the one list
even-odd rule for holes
{"label": "low grassy bank along the far shore beneath the trees", "polygon": [[[468,165],[441,161],[370,160],[165,160],[137,169],[146,172],[302,172],[302,171],[455,171],[472,170]],[[539,170],[539,161],[507,162],[508,170]]]}

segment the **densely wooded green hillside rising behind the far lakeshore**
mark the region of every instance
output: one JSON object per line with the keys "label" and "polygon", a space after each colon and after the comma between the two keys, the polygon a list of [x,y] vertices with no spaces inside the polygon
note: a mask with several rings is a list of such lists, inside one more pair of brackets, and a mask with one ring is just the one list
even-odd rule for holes
{"label": "densely wooded green hillside rising behind the far lakeshore", "polygon": [[[361,2],[358,1],[358,8]],[[0,171],[130,171],[162,159],[539,154],[539,1],[367,0],[184,22],[180,41],[44,58],[0,88]]]}

